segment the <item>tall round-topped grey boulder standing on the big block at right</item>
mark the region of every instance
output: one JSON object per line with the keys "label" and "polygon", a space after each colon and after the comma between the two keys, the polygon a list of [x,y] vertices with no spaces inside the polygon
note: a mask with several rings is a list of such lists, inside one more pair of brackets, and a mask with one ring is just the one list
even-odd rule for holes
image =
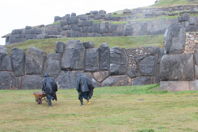
{"label": "tall round-topped grey boulder standing on the big block at right", "polygon": [[166,54],[183,53],[186,41],[186,32],[182,25],[171,25],[166,30],[164,37]]}

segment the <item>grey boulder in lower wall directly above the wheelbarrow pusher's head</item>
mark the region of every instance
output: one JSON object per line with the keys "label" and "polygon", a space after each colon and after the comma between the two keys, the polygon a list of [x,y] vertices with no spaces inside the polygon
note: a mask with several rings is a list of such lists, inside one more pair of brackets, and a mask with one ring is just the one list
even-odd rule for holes
{"label": "grey boulder in lower wall directly above the wheelbarrow pusher's head", "polygon": [[60,54],[49,54],[45,63],[45,73],[48,73],[50,76],[57,76],[61,71],[60,60]]}

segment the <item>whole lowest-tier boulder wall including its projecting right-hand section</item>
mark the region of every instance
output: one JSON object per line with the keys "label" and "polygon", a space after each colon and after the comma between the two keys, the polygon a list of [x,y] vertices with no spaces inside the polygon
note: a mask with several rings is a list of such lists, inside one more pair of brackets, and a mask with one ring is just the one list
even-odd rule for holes
{"label": "whole lowest-tier boulder wall including its projecting right-hand section", "polygon": [[57,42],[53,54],[36,48],[8,54],[0,47],[0,89],[41,88],[48,73],[63,89],[74,88],[76,77],[85,74],[97,87],[160,82],[162,90],[197,90],[198,33],[187,32],[187,22],[166,30],[164,48],[109,48],[105,43],[94,48],[77,40]]}

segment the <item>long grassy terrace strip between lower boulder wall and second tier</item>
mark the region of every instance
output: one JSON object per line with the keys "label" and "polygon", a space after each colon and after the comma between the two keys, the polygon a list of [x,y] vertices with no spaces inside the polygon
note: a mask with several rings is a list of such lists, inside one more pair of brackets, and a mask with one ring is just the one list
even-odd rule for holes
{"label": "long grassy terrace strip between lower boulder wall and second tier", "polygon": [[14,45],[8,45],[8,49],[14,47],[20,49],[27,49],[30,47],[37,47],[44,50],[47,53],[53,53],[55,49],[55,43],[57,41],[67,42],[69,40],[80,40],[82,42],[92,41],[96,47],[106,42],[110,47],[122,47],[122,48],[137,48],[144,46],[161,46],[163,44],[163,35],[155,36],[122,36],[122,37],[78,37],[78,38],[58,38],[58,39],[40,39],[40,40],[27,40],[23,43]]}

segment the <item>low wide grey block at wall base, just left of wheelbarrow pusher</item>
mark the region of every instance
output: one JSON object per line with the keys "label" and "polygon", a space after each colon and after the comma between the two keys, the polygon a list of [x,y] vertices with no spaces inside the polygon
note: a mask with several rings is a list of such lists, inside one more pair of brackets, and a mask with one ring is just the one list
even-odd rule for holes
{"label": "low wide grey block at wall base, just left of wheelbarrow pusher", "polygon": [[41,89],[42,80],[40,75],[25,75],[22,77],[22,89]]}

